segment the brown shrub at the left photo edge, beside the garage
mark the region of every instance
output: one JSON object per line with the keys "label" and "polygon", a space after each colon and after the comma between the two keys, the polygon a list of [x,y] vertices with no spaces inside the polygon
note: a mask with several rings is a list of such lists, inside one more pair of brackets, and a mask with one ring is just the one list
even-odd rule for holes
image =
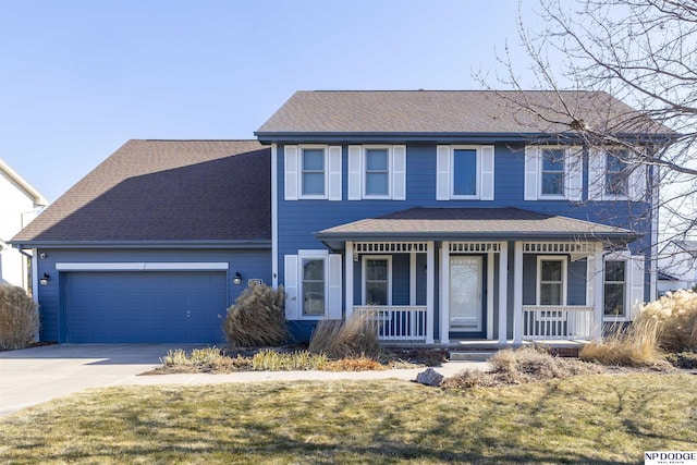
{"label": "brown shrub at the left photo edge, beside the garage", "polygon": [[22,287],[0,284],[0,348],[22,348],[39,329],[36,303]]}

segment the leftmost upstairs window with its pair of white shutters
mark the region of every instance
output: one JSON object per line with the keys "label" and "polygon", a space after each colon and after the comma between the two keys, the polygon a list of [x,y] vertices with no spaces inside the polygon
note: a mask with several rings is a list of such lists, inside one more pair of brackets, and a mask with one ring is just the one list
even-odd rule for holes
{"label": "leftmost upstairs window with its pair of white shutters", "polygon": [[341,147],[283,147],[284,199],[341,200]]}

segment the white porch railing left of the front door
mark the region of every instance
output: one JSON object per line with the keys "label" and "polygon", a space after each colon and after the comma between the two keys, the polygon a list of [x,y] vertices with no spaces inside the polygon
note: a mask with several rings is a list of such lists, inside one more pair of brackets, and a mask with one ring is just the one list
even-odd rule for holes
{"label": "white porch railing left of the front door", "polygon": [[354,306],[354,315],[364,318],[379,341],[425,342],[426,306],[366,305]]}

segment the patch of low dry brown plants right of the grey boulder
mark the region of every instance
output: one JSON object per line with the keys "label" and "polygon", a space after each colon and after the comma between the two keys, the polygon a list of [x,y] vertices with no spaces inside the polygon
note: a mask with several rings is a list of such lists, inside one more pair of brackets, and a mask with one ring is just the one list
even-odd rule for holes
{"label": "patch of low dry brown plants right of the grey boulder", "polygon": [[523,384],[553,378],[561,379],[602,372],[602,368],[597,365],[575,358],[553,357],[548,352],[536,347],[499,351],[489,358],[489,363],[493,366],[493,370],[488,372],[467,370],[458,376],[447,378],[441,387],[464,389]]}

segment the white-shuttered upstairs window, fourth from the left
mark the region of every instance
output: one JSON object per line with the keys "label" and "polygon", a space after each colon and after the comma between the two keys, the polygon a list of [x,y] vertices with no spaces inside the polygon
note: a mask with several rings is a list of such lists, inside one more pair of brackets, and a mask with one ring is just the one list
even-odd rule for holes
{"label": "white-shuttered upstairs window, fourth from the left", "polygon": [[525,147],[525,200],[582,200],[583,149]]}

